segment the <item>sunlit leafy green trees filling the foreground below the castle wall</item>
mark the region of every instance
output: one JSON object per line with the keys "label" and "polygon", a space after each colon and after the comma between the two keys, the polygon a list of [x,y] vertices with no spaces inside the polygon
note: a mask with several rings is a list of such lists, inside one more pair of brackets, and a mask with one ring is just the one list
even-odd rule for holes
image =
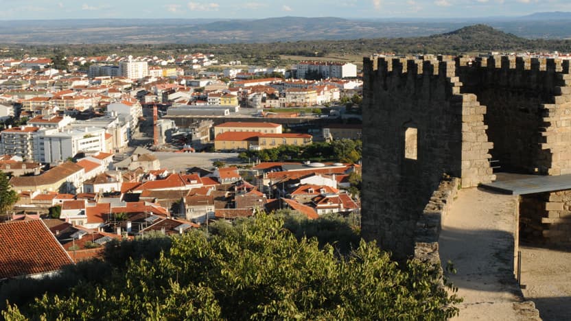
{"label": "sunlit leafy green trees filling the foreground below the castle wall", "polygon": [[[7,320],[445,320],[458,313],[454,304],[460,300],[441,287],[438,267],[418,261],[397,265],[374,243],[360,241],[341,254],[318,239],[296,237],[279,216],[263,213],[211,228],[209,237],[196,230],[113,243],[106,261],[70,267],[52,287],[45,286],[49,280],[5,283],[0,294],[10,295],[10,305],[2,315]],[[32,287],[34,282],[43,287]],[[36,291],[34,302],[20,296],[26,291]]]}

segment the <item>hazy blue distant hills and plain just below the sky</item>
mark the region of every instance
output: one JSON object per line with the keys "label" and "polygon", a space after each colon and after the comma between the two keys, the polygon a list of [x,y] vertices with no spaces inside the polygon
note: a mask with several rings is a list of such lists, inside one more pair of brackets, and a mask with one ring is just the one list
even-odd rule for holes
{"label": "hazy blue distant hills and plain just below the sky", "polygon": [[[273,43],[300,40],[417,38],[451,34],[485,23],[522,38],[571,38],[570,12],[540,12],[516,18],[377,19],[336,17],[246,19],[86,19],[0,21],[5,44],[197,44]],[[472,32],[476,32],[475,29]],[[469,36],[469,35],[465,35]],[[472,38],[477,38],[472,35]]]}

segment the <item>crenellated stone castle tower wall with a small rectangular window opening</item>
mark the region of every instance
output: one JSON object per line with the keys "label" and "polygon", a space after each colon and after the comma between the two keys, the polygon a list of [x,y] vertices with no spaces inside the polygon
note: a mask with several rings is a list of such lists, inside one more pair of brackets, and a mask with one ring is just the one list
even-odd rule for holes
{"label": "crenellated stone castle tower wall with a small rectangular window opening", "polygon": [[362,231],[404,259],[443,173],[466,187],[493,180],[486,108],[461,93],[450,60],[365,59],[364,70]]}

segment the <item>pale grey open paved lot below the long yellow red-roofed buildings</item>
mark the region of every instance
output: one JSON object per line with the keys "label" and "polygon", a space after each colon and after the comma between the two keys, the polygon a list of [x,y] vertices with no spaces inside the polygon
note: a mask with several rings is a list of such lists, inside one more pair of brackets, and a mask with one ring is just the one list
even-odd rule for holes
{"label": "pale grey open paved lot below the long yellow red-roofed buildings", "polygon": [[204,167],[209,169],[212,162],[222,160],[226,164],[242,163],[237,156],[238,153],[153,153],[161,161],[161,168],[170,171],[185,171],[189,167]]}

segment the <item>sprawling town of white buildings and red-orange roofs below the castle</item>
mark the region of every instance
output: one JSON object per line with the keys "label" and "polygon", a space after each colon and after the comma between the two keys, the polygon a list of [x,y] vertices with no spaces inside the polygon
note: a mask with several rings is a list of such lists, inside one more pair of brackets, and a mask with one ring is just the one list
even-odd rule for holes
{"label": "sprawling town of white buildings and red-orange roofs below the castle", "polygon": [[359,215],[360,160],[246,154],[360,139],[356,64],[256,67],[202,53],[65,62],[0,59],[0,170],[18,194],[1,219],[43,219],[73,261],[111,239],[256,211]]}

